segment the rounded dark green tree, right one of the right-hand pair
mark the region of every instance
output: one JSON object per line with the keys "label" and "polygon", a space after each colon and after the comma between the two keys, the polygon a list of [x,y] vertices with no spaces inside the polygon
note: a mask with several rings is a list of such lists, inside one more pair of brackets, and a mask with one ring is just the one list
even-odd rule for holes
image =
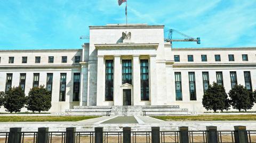
{"label": "rounded dark green tree, right one of the right-hand pair", "polygon": [[242,85],[235,85],[228,94],[230,97],[230,105],[239,112],[241,110],[249,110],[254,105],[253,94]]}

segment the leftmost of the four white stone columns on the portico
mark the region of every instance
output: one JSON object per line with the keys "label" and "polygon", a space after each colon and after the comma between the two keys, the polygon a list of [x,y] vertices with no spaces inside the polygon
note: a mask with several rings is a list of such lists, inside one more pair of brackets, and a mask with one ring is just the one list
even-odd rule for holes
{"label": "leftmost of the four white stone columns on the portico", "polygon": [[104,56],[98,56],[98,68],[97,68],[97,105],[100,106],[105,100],[105,66]]}

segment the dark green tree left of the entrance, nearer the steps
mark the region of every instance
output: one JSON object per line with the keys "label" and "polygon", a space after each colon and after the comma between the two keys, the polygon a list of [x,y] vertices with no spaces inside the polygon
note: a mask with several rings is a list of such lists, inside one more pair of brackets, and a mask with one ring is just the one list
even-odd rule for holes
{"label": "dark green tree left of the entrance, nearer the steps", "polygon": [[51,93],[44,86],[30,89],[28,93],[28,110],[33,112],[49,111],[51,106]]}

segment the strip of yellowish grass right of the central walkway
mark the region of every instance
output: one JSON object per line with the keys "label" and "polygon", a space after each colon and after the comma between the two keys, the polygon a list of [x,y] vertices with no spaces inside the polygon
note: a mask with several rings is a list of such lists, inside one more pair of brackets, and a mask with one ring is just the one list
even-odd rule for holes
{"label": "strip of yellowish grass right of the central walkway", "polygon": [[151,116],[164,121],[256,121],[256,115]]}

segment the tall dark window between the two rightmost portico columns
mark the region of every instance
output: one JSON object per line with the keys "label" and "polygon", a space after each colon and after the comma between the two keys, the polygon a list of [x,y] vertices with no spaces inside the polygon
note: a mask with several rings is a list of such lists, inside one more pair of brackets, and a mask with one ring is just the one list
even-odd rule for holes
{"label": "tall dark window between the two rightmost portico columns", "polygon": [[149,100],[148,60],[140,60],[140,99]]}

